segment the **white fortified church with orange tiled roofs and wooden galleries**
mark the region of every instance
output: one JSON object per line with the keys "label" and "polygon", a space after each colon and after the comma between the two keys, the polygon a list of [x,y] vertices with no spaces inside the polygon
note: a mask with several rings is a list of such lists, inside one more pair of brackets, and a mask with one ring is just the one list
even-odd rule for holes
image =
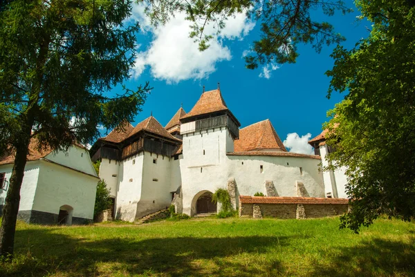
{"label": "white fortified church with orange tiled roofs and wooden galleries", "polygon": [[189,216],[215,212],[219,188],[228,189],[234,209],[240,195],[325,198],[333,191],[324,187],[320,155],[288,152],[270,120],[240,126],[218,88],[189,113],[179,108],[165,127],[150,116],[100,138],[92,160],[101,160],[113,216],[138,220],[172,202]]}

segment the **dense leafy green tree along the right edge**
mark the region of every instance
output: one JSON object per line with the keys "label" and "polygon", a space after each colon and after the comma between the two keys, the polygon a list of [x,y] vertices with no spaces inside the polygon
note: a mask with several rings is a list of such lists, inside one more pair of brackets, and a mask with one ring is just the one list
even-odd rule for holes
{"label": "dense leafy green tree along the right edge", "polygon": [[332,168],[346,166],[351,211],[341,227],[358,231],[380,214],[415,215],[415,1],[356,1],[373,22],[367,39],[332,57],[329,95],[347,93],[330,115]]}

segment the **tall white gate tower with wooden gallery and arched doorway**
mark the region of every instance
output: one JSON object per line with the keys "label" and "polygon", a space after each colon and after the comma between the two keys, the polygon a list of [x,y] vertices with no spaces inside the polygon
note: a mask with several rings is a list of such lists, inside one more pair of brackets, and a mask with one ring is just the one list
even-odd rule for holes
{"label": "tall white gate tower with wooden gallery and arched doorway", "polygon": [[[216,212],[212,193],[228,182],[228,158],[241,124],[226,106],[221,90],[203,92],[192,111],[181,117],[183,213]],[[199,199],[205,198],[206,201]],[[198,201],[199,200],[199,201]]]}

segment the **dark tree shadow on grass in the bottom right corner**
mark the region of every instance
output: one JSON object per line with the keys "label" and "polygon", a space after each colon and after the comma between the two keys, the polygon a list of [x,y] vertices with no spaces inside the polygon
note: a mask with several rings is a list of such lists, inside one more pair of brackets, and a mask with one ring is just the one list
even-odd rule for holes
{"label": "dark tree shadow on grass in the bottom right corner", "polygon": [[316,261],[311,276],[415,276],[415,239],[408,243],[374,238],[358,247],[337,249]]}

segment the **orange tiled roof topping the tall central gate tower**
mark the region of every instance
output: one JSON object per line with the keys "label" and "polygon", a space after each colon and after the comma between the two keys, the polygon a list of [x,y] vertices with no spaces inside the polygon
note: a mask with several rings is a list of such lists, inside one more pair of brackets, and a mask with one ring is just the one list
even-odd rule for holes
{"label": "orange tiled roof topping the tall central gate tower", "polygon": [[217,111],[227,111],[228,106],[226,106],[225,101],[223,100],[221,90],[210,90],[205,91],[199,100],[194,104],[192,111],[187,113],[181,118],[193,117],[196,115],[204,115],[207,113],[214,113]]}

